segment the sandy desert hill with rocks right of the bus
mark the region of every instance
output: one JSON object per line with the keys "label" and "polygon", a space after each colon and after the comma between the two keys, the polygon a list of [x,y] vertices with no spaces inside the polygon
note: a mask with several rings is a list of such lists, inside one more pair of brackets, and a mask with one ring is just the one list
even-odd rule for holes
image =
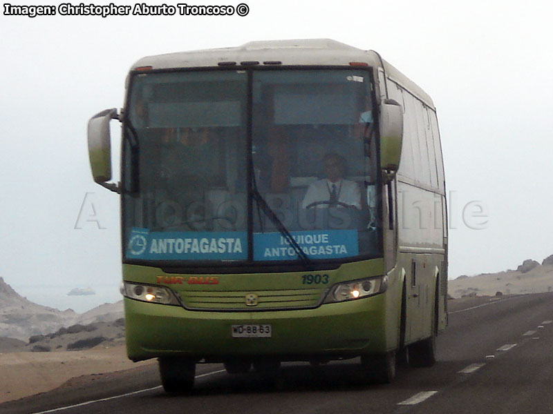
{"label": "sandy desert hill with rocks right of the bus", "polygon": [[552,291],[553,255],[544,259],[541,264],[527,259],[516,270],[459,276],[448,283],[451,297],[521,295]]}

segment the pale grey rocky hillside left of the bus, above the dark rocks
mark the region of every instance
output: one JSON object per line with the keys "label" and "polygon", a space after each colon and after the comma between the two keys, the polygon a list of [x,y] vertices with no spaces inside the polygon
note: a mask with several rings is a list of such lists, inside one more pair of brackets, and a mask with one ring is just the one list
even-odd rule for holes
{"label": "pale grey rocky hillside left of the bus, above the dark rocks", "polygon": [[32,336],[55,333],[60,328],[96,322],[110,324],[122,317],[122,301],[104,304],[82,314],[71,309],[59,311],[21,297],[0,277],[0,338],[10,337],[28,342]]}

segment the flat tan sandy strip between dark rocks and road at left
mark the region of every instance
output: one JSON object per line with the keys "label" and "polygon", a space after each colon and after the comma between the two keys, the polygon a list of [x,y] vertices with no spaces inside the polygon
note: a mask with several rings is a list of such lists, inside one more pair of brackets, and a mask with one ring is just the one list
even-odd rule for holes
{"label": "flat tan sandy strip between dark rocks and road at left", "polygon": [[3,353],[0,403],[50,391],[79,375],[110,373],[153,363],[153,360],[131,362],[122,344],[86,351]]}

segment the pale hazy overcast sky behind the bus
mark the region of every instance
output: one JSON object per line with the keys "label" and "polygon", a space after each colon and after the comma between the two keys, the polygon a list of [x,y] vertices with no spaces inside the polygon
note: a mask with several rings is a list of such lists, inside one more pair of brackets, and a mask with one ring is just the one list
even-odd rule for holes
{"label": "pale hazy overcast sky behind the bus", "polygon": [[[377,50],[429,93],[444,152],[450,279],[553,254],[547,2],[244,3],[250,9],[245,17],[105,18],[5,15],[4,3],[0,277],[21,295],[79,312],[120,299],[119,199],[93,183],[88,119],[122,106],[126,72],[140,57],[252,40],[329,38]],[[118,127],[112,124],[116,161]],[[91,216],[96,221],[87,221]],[[67,295],[88,287],[96,295]]]}

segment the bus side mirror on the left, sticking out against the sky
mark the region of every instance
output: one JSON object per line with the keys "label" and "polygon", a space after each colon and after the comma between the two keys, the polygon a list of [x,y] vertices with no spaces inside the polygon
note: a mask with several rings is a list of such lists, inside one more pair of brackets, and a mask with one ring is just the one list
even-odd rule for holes
{"label": "bus side mirror on the left, sticking out against the sky", "polygon": [[88,157],[94,181],[117,192],[118,186],[106,184],[111,179],[111,119],[119,119],[115,108],[103,110],[88,121]]}

